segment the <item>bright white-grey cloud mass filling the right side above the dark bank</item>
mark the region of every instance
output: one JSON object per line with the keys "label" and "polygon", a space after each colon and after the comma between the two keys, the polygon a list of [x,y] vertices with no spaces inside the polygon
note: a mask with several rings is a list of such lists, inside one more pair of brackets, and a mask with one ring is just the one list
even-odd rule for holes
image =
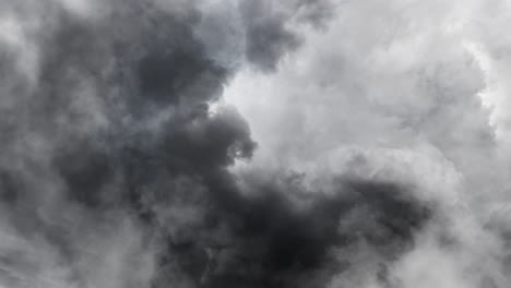
{"label": "bright white-grey cloud mass filling the right side above the dark bank", "polygon": [[510,251],[486,228],[508,216],[485,215],[510,201],[510,13],[504,1],[343,2],[275,73],[246,69],[227,87],[259,143],[235,171],[413,181],[445,204],[460,250],[433,225],[393,269],[403,287],[508,287]]}

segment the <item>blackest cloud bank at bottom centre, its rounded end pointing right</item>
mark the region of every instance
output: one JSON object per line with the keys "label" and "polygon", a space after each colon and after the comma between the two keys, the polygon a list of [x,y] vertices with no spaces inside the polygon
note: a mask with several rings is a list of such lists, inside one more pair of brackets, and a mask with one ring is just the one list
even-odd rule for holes
{"label": "blackest cloud bank at bottom centre, its rounded end pointing right", "polygon": [[[322,287],[356,269],[349,253],[363,242],[385,267],[414,247],[414,233],[433,213],[393,183],[343,180],[335,194],[324,194],[258,182],[257,194],[243,196],[219,179],[206,180],[207,219],[170,238],[162,262],[204,287]],[[340,259],[334,251],[349,252]]]}

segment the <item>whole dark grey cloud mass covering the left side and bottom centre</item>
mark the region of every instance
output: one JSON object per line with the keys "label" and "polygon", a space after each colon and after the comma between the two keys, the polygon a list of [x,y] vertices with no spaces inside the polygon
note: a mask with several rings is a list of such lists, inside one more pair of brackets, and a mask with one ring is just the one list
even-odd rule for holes
{"label": "whole dark grey cloud mass covering the left side and bottom centre", "polygon": [[[52,264],[28,256],[35,271],[19,267],[3,253],[24,249],[0,247],[2,266],[24,277],[64,266],[60,280],[76,287],[321,287],[355,265],[334,250],[356,253],[364,242],[384,266],[430,219],[431,207],[399,183],[343,179],[333,194],[300,180],[254,177],[240,187],[229,167],[257,144],[234,108],[211,107],[236,71],[195,34],[200,10],[111,2],[108,16],[92,21],[57,3],[40,12],[35,88],[5,96],[22,105],[12,106],[20,116],[9,127],[19,139],[1,149],[13,167],[0,173],[9,226],[43,242]],[[300,1],[281,16],[243,1],[247,59],[275,69],[300,44],[286,22],[309,9],[301,20],[323,17],[311,7]],[[118,266],[104,280],[95,265],[110,264],[106,250]],[[136,274],[139,250],[154,252],[147,278]]]}

